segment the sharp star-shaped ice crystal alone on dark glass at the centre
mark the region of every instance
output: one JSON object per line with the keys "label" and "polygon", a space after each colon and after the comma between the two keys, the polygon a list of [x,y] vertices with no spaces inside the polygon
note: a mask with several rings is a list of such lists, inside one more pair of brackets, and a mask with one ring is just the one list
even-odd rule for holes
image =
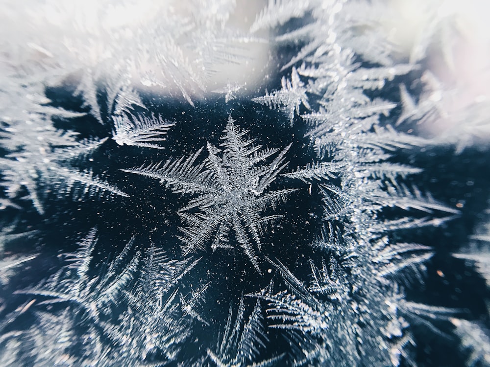
{"label": "sharp star-shaped ice crystal alone on dark glass at the centre", "polygon": [[[194,162],[202,148],[187,159],[182,157],[123,171],[159,179],[162,184],[169,184],[174,192],[197,194],[179,210],[187,224],[180,236],[184,255],[203,250],[208,243],[213,250],[232,249],[228,232],[233,229],[242,251],[260,273],[255,254],[262,248],[260,233],[268,222],[277,218],[263,217],[260,213],[269,206],[277,206],[294,191],[268,189],[288,164],[284,160],[291,144],[280,152],[278,149],[260,150],[260,145],[254,146],[252,140],[244,138],[247,131],[236,126],[231,116],[223,133],[224,142],[220,144],[223,150],[208,142],[208,158],[199,165]],[[279,155],[268,165],[259,164],[277,152]]]}

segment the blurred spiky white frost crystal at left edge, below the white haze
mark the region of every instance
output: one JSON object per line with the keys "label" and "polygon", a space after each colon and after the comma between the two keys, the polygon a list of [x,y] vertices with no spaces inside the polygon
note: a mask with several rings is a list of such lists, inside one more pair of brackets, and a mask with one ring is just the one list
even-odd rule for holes
{"label": "blurred spiky white frost crystal at left edge, below the white haze", "polygon": [[54,108],[41,109],[39,115],[33,114],[29,119],[10,120],[0,131],[0,146],[9,151],[0,159],[2,185],[7,195],[17,199],[21,190],[27,189],[30,200],[41,214],[46,186],[62,193],[73,193],[75,197],[103,193],[127,196],[115,185],[95,176],[90,168],[79,171],[67,164],[69,160],[89,155],[107,138],[78,140],[74,132],[54,128],[49,120],[53,114],[77,115]]}

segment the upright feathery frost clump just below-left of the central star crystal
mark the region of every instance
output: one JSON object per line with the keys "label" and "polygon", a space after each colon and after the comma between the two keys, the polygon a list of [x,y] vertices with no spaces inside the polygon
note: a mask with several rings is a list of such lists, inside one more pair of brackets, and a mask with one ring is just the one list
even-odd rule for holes
{"label": "upright feathery frost clump just below-left of the central star crystal", "polygon": [[[127,363],[141,363],[154,355],[167,361],[176,358],[190,337],[190,320],[180,311],[176,288],[198,261],[170,260],[154,246],[148,248],[138,282],[124,291],[126,312],[108,325],[111,338],[120,345],[115,358]],[[193,313],[192,305],[187,305],[187,313]]]}

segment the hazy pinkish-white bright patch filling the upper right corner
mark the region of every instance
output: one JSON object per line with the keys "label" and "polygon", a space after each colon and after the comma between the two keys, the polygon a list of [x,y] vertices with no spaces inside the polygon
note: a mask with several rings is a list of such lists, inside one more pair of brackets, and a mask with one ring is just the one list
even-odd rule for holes
{"label": "hazy pinkish-white bright patch filling the upper right corner", "polygon": [[489,12],[481,0],[396,0],[384,18],[389,39],[428,67],[415,107],[432,115],[421,134],[457,151],[490,139]]}

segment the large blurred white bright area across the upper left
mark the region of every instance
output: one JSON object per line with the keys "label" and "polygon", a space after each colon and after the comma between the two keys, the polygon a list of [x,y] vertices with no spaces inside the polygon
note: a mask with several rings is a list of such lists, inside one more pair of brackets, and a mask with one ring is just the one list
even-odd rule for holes
{"label": "large blurred white bright area across the upper left", "polygon": [[[49,82],[88,73],[192,101],[229,82],[253,88],[269,45],[248,28],[260,1],[3,1],[0,72],[49,69]],[[56,77],[59,79],[56,80]],[[83,76],[82,76],[83,79]]]}

